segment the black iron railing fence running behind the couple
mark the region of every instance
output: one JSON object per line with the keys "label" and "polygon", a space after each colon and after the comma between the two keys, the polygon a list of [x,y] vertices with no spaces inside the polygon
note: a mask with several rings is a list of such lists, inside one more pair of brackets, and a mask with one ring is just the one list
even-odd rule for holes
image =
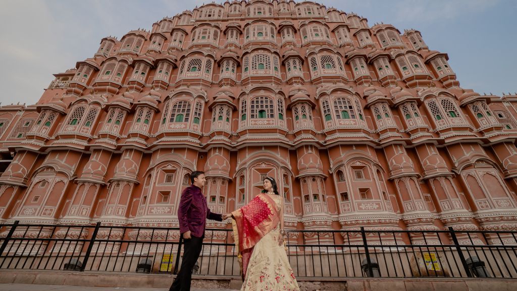
{"label": "black iron railing fence running behind the couple", "polygon": [[[291,230],[297,277],[517,278],[517,231]],[[0,225],[0,269],[176,273],[178,228]],[[197,275],[238,277],[231,229],[207,229]]]}

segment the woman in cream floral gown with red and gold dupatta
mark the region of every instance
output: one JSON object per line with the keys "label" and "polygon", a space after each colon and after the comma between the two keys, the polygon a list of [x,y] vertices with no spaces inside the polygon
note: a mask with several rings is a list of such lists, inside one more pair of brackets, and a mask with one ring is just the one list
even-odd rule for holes
{"label": "woman in cream floral gown with red and gold dupatta", "polygon": [[241,290],[300,290],[284,248],[283,199],[277,182],[264,179],[264,191],[232,212],[241,265]]}

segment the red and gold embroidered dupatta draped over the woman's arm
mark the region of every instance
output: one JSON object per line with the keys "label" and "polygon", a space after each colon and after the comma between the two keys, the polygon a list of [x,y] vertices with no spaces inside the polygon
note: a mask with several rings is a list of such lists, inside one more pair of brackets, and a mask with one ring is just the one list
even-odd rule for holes
{"label": "red and gold embroidered dupatta draped over the woman's arm", "polygon": [[266,194],[259,194],[248,205],[232,212],[235,246],[239,254],[242,278],[253,252],[253,247],[280,221],[276,203]]}

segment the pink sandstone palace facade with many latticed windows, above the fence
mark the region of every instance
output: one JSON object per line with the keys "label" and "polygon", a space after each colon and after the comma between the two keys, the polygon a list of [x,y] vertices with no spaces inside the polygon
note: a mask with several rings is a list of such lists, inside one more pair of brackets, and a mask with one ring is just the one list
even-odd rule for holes
{"label": "pink sandstone palace facade with many latticed windows, above the fence", "polygon": [[37,104],[0,108],[0,222],[178,226],[198,169],[219,213],[275,178],[288,229],[517,230],[517,96],[461,88],[447,60],[308,1],[105,37]]}

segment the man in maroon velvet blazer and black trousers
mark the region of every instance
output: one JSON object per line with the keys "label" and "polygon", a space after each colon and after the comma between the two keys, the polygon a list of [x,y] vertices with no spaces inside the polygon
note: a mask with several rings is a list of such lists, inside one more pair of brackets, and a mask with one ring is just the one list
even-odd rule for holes
{"label": "man in maroon velvet blazer and black trousers", "polygon": [[170,291],[190,290],[192,268],[199,254],[205,237],[206,219],[223,221],[226,215],[213,213],[208,209],[206,197],[201,193],[205,186],[205,173],[194,171],[190,174],[192,185],[181,193],[178,208],[179,232],[184,239],[183,260],[176,279],[169,288]]}

